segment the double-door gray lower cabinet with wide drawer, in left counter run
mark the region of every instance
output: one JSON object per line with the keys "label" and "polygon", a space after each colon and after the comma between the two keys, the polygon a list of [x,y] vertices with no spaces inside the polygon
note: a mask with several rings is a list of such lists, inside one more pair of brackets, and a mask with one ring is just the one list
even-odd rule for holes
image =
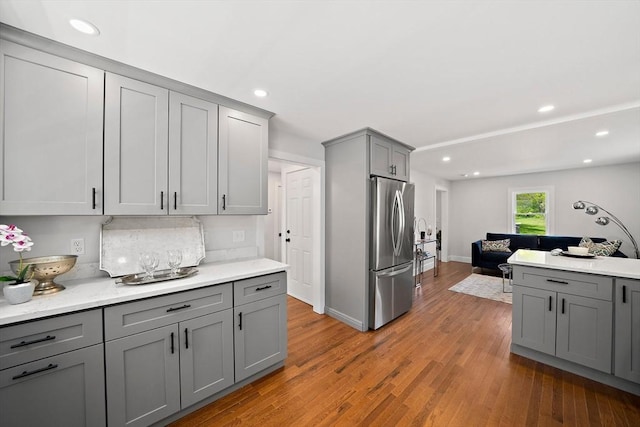
{"label": "double-door gray lower cabinet with wide drawer, in left counter run", "polygon": [[230,283],[104,311],[110,426],[147,426],[233,385]]}

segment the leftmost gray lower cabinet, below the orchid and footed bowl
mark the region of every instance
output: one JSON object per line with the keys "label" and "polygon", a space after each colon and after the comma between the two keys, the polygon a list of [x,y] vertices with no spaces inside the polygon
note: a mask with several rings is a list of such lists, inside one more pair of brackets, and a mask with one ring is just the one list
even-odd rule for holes
{"label": "leftmost gray lower cabinet, below the orchid and footed bowl", "polygon": [[0,425],[104,426],[102,310],[0,328]]}

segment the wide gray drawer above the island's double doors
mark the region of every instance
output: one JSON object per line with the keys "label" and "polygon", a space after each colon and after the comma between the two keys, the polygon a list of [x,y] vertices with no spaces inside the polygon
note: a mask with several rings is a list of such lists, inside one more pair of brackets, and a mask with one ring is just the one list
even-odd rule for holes
{"label": "wide gray drawer above the island's double doors", "polygon": [[571,295],[613,299],[613,278],[535,267],[513,267],[513,282],[532,288],[564,292]]}

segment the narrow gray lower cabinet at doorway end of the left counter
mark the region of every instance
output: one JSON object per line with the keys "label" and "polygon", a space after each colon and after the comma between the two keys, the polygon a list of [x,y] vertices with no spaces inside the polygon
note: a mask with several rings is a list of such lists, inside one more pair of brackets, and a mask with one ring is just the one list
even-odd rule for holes
{"label": "narrow gray lower cabinet at doorway end of the left counter", "polygon": [[234,283],[236,381],[287,357],[286,273]]}

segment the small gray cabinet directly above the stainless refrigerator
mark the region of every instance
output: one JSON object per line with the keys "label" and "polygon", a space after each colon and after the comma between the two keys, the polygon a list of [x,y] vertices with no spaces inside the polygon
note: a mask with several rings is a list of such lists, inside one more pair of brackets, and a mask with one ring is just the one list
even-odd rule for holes
{"label": "small gray cabinet directly above the stainless refrigerator", "polygon": [[409,181],[409,155],[411,150],[378,135],[370,135],[371,175]]}

